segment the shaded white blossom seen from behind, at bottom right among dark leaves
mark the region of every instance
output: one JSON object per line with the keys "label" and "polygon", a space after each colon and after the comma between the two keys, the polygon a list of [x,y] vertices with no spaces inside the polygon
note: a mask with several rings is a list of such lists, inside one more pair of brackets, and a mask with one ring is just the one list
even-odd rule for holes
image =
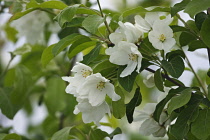
{"label": "shaded white blossom seen from behind, at bottom right among dark leaves", "polygon": [[145,136],[152,134],[155,137],[163,137],[166,134],[166,127],[169,125],[170,120],[165,112],[161,113],[159,123],[153,119],[152,115],[156,105],[156,103],[147,103],[134,119],[135,121],[142,121],[139,128],[140,134]]}

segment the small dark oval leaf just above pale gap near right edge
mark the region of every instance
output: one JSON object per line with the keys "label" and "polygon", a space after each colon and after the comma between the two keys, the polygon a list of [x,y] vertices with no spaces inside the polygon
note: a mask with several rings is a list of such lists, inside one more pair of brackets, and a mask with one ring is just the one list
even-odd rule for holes
{"label": "small dark oval leaf just above pale gap near right edge", "polygon": [[197,49],[207,48],[206,44],[204,44],[201,40],[193,40],[188,44],[188,46],[188,51],[195,51]]}

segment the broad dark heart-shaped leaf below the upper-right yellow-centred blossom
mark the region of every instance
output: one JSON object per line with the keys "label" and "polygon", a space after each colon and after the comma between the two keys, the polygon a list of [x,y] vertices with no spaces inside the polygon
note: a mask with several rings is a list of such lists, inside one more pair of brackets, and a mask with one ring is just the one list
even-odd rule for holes
{"label": "broad dark heart-shaped leaf below the upper-right yellow-centred blossom", "polygon": [[184,62],[180,56],[174,57],[169,62],[162,60],[161,64],[163,68],[174,78],[178,78],[184,71]]}

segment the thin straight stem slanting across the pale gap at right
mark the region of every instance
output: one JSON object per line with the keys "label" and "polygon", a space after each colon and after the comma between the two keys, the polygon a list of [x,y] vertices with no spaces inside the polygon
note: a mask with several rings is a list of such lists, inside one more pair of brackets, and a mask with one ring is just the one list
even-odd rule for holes
{"label": "thin straight stem slanting across the pale gap at right", "polygon": [[[183,50],[182,50],[183,51]],[[185,54],[185,52],[183,51],[183,53]],[[199,85],[201,86],[204,95],[207,97],[208,96],[208,92],[206,91],[206,88],[204,87],[203,82],[201,81],[200,77],[197,75],[197,73],[195,72],[195,70],[192,67],[192,64],[189,61],[189,58],[187,57],[187,55],[185,54],[185,58],[186,58],[186,62],[188,64],[188,66],[190,67],[190,69],[192,70],[192,73],[195,75],[196,80],[198,81]]]}

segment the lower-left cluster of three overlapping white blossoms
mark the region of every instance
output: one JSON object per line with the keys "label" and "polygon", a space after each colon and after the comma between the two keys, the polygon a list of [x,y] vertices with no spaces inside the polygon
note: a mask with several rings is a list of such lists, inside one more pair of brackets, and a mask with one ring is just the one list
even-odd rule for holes
{"label": "lower-left cluster of three overlapping white blossoms", "polygon": [[106,113],[110,113],[108,104],[105,101],[108,95],[113,101],[120,99],[114,91],[114,86],[100,73],[93,74],[93,70],[82,63],[76,63],[72,72],[74,77],[62,77],[69,82],[66,92],[73,94],[78,102],[75,106],[74,114],[82,112],[84,123],[94,122],[99,125],[99,121]]}

